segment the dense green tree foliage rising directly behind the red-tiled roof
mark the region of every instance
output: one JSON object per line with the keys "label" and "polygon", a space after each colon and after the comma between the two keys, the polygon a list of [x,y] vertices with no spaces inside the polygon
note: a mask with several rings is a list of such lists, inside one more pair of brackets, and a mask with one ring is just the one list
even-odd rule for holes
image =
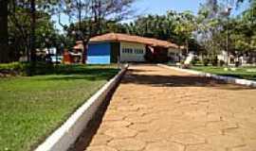
{"label": "dense green tree foliage rising directly behind the red-tiled roof", "polygon": [[134,23],[124,24],[119,31],[178,45],[196,45],[192,37],[192,31],[195,30],[194,21],[195,16],[190,11],[168,11],[164,15],[140,16]]}

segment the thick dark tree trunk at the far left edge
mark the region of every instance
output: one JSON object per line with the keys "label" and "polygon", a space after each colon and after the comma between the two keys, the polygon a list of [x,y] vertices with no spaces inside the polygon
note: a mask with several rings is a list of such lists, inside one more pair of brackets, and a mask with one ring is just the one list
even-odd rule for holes
{"label": "thick dark tree trunk at the far left edge", "polygon": [[8,62],[8,1],[0,0],[0,63]]}

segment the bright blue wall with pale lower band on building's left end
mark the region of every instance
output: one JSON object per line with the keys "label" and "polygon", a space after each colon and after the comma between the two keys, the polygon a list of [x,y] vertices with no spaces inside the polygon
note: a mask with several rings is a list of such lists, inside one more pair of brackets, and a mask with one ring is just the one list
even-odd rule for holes
{"label": "bright blue wall with pale lower band on building's left end", "polygon": [[109,42],[90,43],[88,45],[88,64],[109,64],[111,44]]}

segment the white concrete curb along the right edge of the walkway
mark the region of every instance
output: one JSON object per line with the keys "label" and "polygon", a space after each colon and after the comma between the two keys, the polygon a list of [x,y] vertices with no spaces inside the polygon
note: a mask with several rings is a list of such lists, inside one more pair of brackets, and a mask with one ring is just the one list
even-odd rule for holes
{"label": "white concrete curb along the right edge of the walkway", "polygon": [[167,68],[167,69],[173,69],[179,72],[186,72],[192,75],[197,75],[197,76],[203,76],[203,77],[211,77],[219,80],[223,80],[227,83],[232,83],[232,84],[239,84],[247,87],[252,87],[256,88],[256,81],[252,80],[247,80],[247,79],[242,79],[242,78],[236,78],[236,77],[229,77],[229,76],[217,76],[209,73],[203,73],[203,72],[198,72],[198,71],[193,71],[193,70],[188,70],[188,69],[181,69],[177,67],[172,67],[168,66],[165,64],[157,64],[160,67]]}

